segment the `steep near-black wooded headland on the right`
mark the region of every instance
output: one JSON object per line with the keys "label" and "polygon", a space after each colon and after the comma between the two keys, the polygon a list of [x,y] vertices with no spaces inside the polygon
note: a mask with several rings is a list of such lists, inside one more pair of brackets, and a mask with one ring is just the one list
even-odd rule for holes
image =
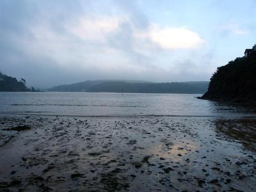
{"label": "steep near-black wooded headland on the right", "polygon": [[218,67],[201,99],[256,103],[256,54]]}

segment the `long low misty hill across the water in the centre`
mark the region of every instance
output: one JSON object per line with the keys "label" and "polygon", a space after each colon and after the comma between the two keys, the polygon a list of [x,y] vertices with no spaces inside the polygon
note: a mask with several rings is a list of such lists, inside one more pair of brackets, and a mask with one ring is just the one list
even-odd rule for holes
{"label": "long low misty hill across the water in the centre", "polygon": [[146,81],[97,80],[60,85],[48,91],[130,92],[130,93],[204,93],[209,82],[152,83]]}

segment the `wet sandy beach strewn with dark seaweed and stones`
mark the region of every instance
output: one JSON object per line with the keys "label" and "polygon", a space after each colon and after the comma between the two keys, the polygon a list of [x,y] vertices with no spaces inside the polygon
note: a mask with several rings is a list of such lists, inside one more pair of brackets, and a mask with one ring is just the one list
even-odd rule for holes
{"label": "wet sandy beach strewn with dark seaweed and stones", "polygon": [[10,115],[0,125],[0,191],[256,189],[255,119]]}

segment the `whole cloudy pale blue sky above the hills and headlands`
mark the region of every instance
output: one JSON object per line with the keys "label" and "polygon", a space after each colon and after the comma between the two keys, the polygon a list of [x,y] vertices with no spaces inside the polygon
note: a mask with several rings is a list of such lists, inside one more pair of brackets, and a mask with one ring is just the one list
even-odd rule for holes
{"label": "whole cloudy pale blue sky above the hills and headlands", "polygon": [[1,0],[0,71],[28,86],[209,81],[256,43],[255,0]]}

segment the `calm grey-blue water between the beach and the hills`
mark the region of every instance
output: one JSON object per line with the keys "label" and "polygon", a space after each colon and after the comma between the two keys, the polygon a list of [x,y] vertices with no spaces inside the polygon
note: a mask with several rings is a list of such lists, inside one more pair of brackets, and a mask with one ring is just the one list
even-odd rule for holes
{"label": "calm grey-blue water between the beach and the hills", "polygon": [[1,114],[74,116],[256,115],[255,107],[196,99],[190,94],[0,92]]}

